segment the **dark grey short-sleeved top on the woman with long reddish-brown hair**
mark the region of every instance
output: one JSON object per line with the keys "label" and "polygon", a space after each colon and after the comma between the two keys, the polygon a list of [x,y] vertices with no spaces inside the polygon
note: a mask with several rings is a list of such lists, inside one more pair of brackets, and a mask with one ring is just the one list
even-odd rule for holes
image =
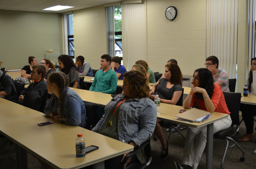
{"label": "dark grey short-sleeved top on the woman with long reddish-brown hair", "polygon": [[166,78],[159,79],[159,85],[156,88],[155,95],[158,94],[160,99],[171,100],[172,95],[176,91],[182,91],[180,84],[174,84],[170,89],[166,87],[168,80]]}

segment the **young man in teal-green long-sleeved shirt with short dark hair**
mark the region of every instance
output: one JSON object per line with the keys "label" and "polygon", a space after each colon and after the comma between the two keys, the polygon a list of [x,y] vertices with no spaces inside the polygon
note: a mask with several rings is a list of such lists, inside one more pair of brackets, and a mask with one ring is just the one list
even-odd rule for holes
{"label": "young man in teal-green long-sleeved shirt with short dark hair", "polygon": [[111,56],[101,56],[100,65],[103,70],[98,70],[94,76],[90,91],[114,94],[117,87],[117,75],[110,69]]}

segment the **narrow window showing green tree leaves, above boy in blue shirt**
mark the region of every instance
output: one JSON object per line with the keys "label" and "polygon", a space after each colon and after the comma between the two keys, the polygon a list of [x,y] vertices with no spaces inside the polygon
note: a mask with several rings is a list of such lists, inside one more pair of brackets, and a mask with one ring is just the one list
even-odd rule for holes
{"label": "narrow window showing green tree leaves, above boy in blue shirt", "polygon": [[114,21],[115,21],[115,56],[119,56],[122,62],[122,7],[121,5],[114,6]]}

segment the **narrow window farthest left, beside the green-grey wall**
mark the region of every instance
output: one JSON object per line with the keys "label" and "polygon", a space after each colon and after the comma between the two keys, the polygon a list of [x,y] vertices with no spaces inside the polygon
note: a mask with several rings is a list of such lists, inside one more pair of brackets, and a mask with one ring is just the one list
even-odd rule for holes
{"label": "narrow window farthest left, beside the green-grey wall", "polygon": [[73,14],[67,15],[67,30],[68,30],[68,55],[74,59],[75,48],[74,48]]}

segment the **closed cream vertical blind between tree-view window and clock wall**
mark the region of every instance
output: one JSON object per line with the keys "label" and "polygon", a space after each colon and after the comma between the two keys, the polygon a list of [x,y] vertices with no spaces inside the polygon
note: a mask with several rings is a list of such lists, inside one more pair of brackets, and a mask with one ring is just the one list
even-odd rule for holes
{"label": "closed cream vertical blind between tree-view window and clock wall", "polygon": [[138,60],[145,60],[144,4],[126,4],[127,70]]}

